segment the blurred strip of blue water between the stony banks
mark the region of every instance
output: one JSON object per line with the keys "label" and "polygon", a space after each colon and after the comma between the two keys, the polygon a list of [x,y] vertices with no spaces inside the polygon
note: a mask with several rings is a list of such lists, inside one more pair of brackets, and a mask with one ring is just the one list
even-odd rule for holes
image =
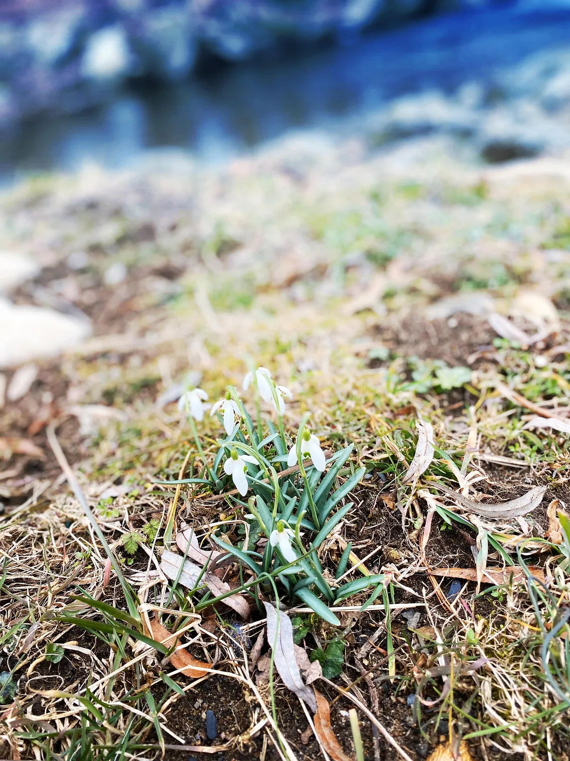
{"label": "blurred strip of blue water between the stony banks", "polygon": [[121,167],[156,148],[223,161],[299,127],[334,128],[424,89],[492,87],[539,51],[570,49],[570,5],[468,11],[367,33],[288,59],[228,65],[183,84],[122,91],[104,107],[42,116],[0,142],[0,181],[94,160]]}

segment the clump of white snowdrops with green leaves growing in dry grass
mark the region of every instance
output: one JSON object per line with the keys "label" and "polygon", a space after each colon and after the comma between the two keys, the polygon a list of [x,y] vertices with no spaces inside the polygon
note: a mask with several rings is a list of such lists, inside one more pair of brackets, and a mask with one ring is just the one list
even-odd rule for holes
{"label": "clump of white snowdrops with green leaves growing in dry grass", "polygon": [[[228,386],[225,396],[211,406],[210,415],[218,416],[226,433],[225,438],[217,439],[219,449],[212,464],[204,456],[196,426],[208,408],[207,393],[195,388],[182,396],[179,408],[188,416],[204,468],[199,478],[168,483],[201,484],[212,492],[227,492],[227,501],[242,508],[246,527],[242,546],[223,541],[223,523],[211,533],[215,543],[252,573],[252,581],[242,584],[242,591],[252,594],[258,604],[260,585],[264,592],[273,591],[290,603],[299,598],[322,619],[338,626],[329,606],[370,586],[375,587],[371,603],[385,581],[382,575],[371,575],[332,588],[318,559],[318,548],[353,503],[337,506],[366,469],[354,470],[347,463],[352,444],[327,459],[318,437],[307,427],[309,415],[303,416],[294,438],[287,434],[283,412],[285,398],[291,398],[291,393],[275,383],[267,368],[245,376],[243,390],[250,389],[255,424],[236,387]],[[261,402],[271,406],[277,425],[264,419]],[[337,578],[344,574],[349,555],[350,546],[340,558]]]}

